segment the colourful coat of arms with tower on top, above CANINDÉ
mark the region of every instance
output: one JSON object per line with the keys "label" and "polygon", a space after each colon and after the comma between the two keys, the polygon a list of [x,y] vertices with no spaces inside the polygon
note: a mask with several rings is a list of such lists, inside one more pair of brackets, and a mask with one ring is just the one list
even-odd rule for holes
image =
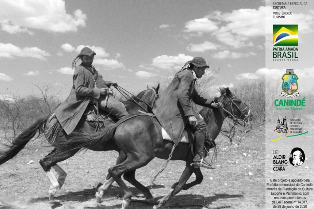
{"label": "colourful coat of arms with tower on top, above CANIND\u00c9", "polygon": [[281,79],[283,80],[281,85],[283,92],[281,92],[280,96],[289,98],[300,96],[299,92],[296,91],[298,90],[298,76],[293,72],[293,69],[287,69]]}

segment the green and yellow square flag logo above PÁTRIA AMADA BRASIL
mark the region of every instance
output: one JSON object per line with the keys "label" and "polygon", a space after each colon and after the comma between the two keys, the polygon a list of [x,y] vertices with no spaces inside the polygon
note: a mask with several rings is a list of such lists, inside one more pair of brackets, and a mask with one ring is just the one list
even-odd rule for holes
{"label": "green and yellow square flag logo above P\u00c1TRIA AMADA BRASIL", "polygon": [[273,46],[297,46],[298,25],[273,25]]}

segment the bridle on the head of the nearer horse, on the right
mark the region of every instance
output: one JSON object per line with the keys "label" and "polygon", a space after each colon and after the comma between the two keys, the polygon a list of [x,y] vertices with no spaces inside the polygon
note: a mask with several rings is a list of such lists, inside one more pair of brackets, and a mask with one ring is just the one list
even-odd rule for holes
{"label": "bridle on the head of the nearer horse, on the right", "polygon": [[[233,98],[235,98],[236,96],[232,96],[232,97],[227,97],[228,99],[228,110],[226,110],[224,107],[221,107],[225,112],[228,113],[228,118],[230,118],[232,120],[232,123],[227,120],[233,127],[235,127],[236,129],[238,129],[239,131],[241,132],[249,132],[251,129],[252,129],[252,123],[251,123],[251,115],[250,115],[250,112],[251,110],[247,107],[246,103],[244,103],[245,105],[245,108],[244,109],[241,109],[237,104],[236,102],[233,101]],[[241,115],[240,115],[240,118],[241,116],[243,115],[244,116],[244,119],[240,119],[236,116],[236,114],[234,113],[234,108],[233,107],[236,107],[240,112],[241,112]],[[245,113],[244,111],[248,109],[248,113]],[[224,116],[225,117],[225,116]],[[226,119],[226,118],[225,118]],[[239,128],[236,127],[237,124],[245,127],[247,123],[250,123],[250,129],[248,131],[244,131],[244,130],[240,130]]]}

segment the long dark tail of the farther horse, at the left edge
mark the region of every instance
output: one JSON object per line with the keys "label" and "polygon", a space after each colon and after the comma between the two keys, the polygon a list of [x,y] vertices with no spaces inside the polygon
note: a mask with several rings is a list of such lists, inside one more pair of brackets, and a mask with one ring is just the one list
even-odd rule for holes
{"label": "long dark tail of the farther horse, at the left edge", "polygon": [[9,159],[12,159],[17,155],[25,145],[35,136],[37,131],[40,133],[43,132],[43,124],[46,123],[47,117],[42,117],[37,119],[30,127],[24,129],[18,137],[10,141],[10,144],[4,144],[9,149],[0,152],[0,165],[7,162]]}

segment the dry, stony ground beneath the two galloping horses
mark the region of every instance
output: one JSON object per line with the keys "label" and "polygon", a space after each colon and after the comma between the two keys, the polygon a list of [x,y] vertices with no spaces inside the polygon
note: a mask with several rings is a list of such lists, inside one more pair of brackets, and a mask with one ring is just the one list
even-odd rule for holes
{"label": "dry, stony ground beneath the two galloping horses", "polygon": [[[0,139],[3,140],[3,131]],[[218,165],[216,170],[202,169],[204,180],[187,191],[181,191],[165,208],[201,208],[226,206],[229,208],[265,208],[265,128],[254,128],[240,144],[230,144],[229,139],[219,135],[216,139]],[[0,150],[3,150],[0,145]],[[35,140],[7,163],[0,165],[0,208],[121,208],[122,190],[116,183],[105,193],[104,202],[97,204],[95,192],[99,182],[104,182],[107,170],[114,165],[116,152],[79,152],[59,163],[68,173],[65,184],[52,201],[48,200],[48,178],[39,165],[51,147]],[[33,163],[29,163],[33,160]],[[170,186],[179,180],[185,167],[183,161],[171,161],[152,184],[154,175],[165,160],[154,159],[146,167],[138,169],[137,179],[156,200],[171,191]],[[249,175],[249,173],[252,175]],[[191,177],[194,180],[195,176]],[[133,199],[141,200],[142,194],[130,186]],[[152,205],[131,202],[131,209],[152,208]]]}

